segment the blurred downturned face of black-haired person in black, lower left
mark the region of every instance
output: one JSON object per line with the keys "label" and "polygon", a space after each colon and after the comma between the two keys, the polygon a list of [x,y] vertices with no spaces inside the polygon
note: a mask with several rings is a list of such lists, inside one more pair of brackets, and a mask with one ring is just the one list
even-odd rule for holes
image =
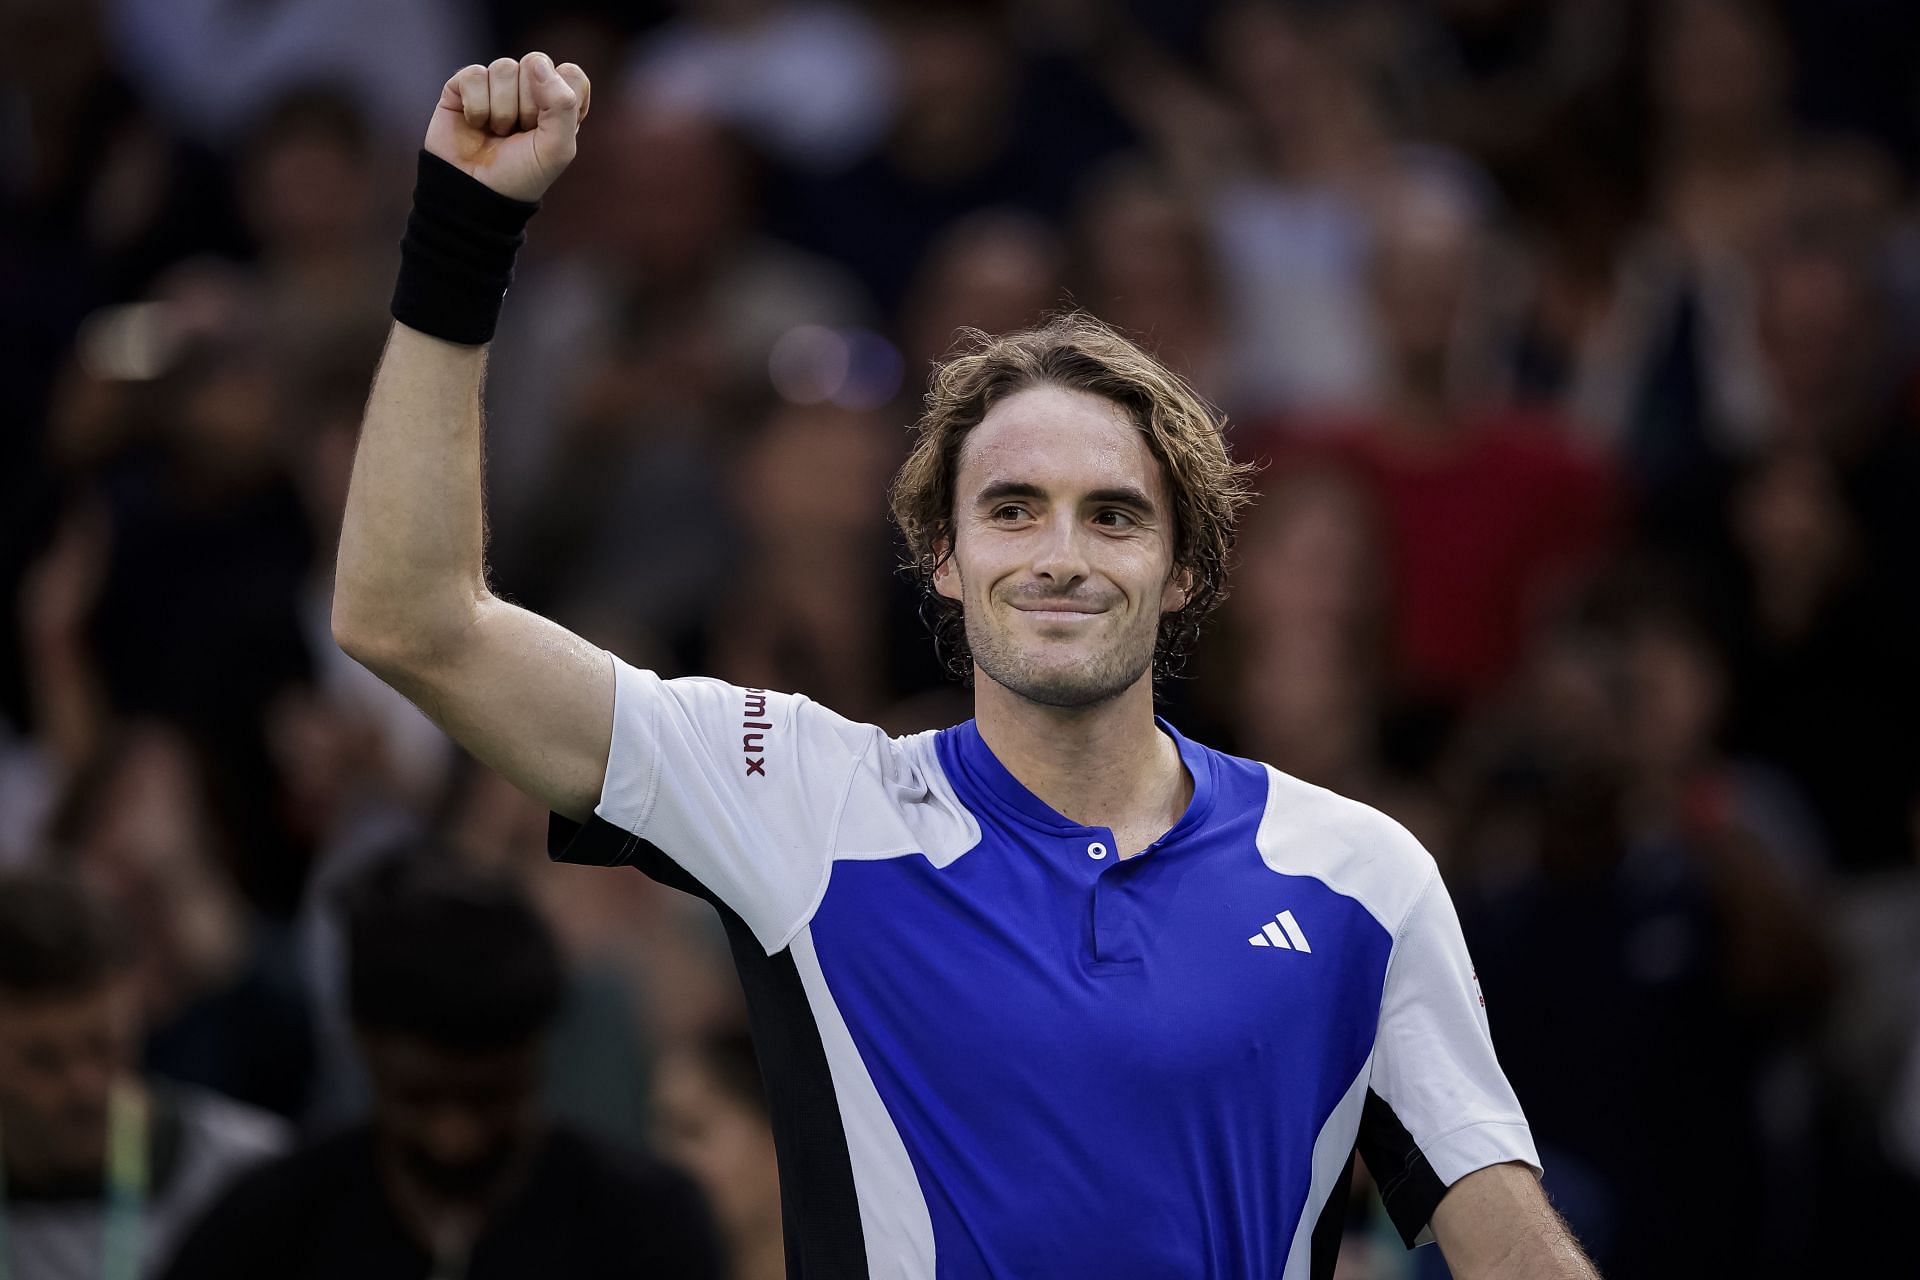
{"label": "blurred downturned face of black-haired person in black, lower left", "polygon": [[540,1042],[455,1052],[363,1032],[374,1130],[407,1176],[442,1201],[486,1201],[540,1130]]}

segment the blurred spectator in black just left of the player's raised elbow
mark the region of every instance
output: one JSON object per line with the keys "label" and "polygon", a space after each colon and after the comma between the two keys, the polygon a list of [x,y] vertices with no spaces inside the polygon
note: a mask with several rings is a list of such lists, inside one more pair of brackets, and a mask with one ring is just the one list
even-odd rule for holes
{"label": "blurred spectator in black just left of the player's raised elbow", "polygon": [[253,336],[227,334],[188,342],[154,382],[71,382],[75,397],[108,395],[84,476],[106,530],[96,562],[63,568],[92,595],[65,608],[84,618],[69,666],[98,679],[104,706],[169,723],[205,756],[232,873],[284,915],[307,850],[278,804],[267,720],[311,679],[300,606],[313,533],[275,372]]}

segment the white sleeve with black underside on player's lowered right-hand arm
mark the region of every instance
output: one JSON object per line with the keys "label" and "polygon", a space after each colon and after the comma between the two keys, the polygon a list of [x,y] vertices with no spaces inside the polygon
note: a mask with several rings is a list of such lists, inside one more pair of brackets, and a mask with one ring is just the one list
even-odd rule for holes
{"label": "white sleeve with black underside on player's lowered right-hand arm", "polygon": [[1540,1173],[1453,900],[1428,875],[1388,960],[1359,1121],[1359,1153],[1409,1247],[1432,1240],[1440,1197],[1469,1173],[1505,1161]]}

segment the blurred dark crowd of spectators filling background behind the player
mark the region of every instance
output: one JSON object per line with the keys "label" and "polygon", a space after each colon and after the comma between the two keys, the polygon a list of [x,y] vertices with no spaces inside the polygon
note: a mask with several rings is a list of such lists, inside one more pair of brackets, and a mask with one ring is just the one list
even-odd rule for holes
{"label": "blurred dark crowd of spectators filling background behind the player", "polygon": [[[534,1090],[515,1115],[599,1144],[566,1176],[666,1157],[726,1274],[781,1274],[707,908],[547,865],[540,806],[328,637],[426,117],[540,48],[595,96],[492,353],[503,595],[662,674],[964,720],[885,484],[962,326],[1094,311],[1263,462],[1165,714],[1434,852],[1605,1274],[1910,1255],[1920,6],[13,0],[0,48],[0,892],[54,904],[0,904],[15,1251],[75,1194],[111,1226],[134,1079],[154,1115],[225,1100],[175,1130],[227,1134],[230,1174],[142,1274],[228,1184],[177,1274],[294,1274],[219,1270],[221,1222],[311,1199],[367,1125],[424,1151],[390,1217],[436,1274],[543,1247],[515,1230],[557,1148],[422,1102],[484,1071],[422,1077],[399,1023],[505,1073],[492,1113]],[[474,902],[530,906],[551,1009],[409,1025],[461,986],[428,938]],[[376,963],[401,994],[371,1013]],[[125,1032],[60,1088],[27,1052],[50,1000]],[[307,1173],[246,1173],[288,1144]],[[703,1221],[680,1174],[620,1169]],[[1369,1203],[1342,1280],[1444,1274]]]}

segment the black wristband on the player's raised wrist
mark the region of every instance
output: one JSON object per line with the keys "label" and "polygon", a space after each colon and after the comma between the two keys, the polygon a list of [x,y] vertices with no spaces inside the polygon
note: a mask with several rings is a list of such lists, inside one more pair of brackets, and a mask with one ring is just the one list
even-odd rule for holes
{"label": "black wristband on the player's raised wrist", "polygon": [[422,150],[413,213],[399,242],[394,319],[447,342],[492,342],[513,282],[513,257],[526,244],[526,219],[538,209],[538,201],[501,196]]}

